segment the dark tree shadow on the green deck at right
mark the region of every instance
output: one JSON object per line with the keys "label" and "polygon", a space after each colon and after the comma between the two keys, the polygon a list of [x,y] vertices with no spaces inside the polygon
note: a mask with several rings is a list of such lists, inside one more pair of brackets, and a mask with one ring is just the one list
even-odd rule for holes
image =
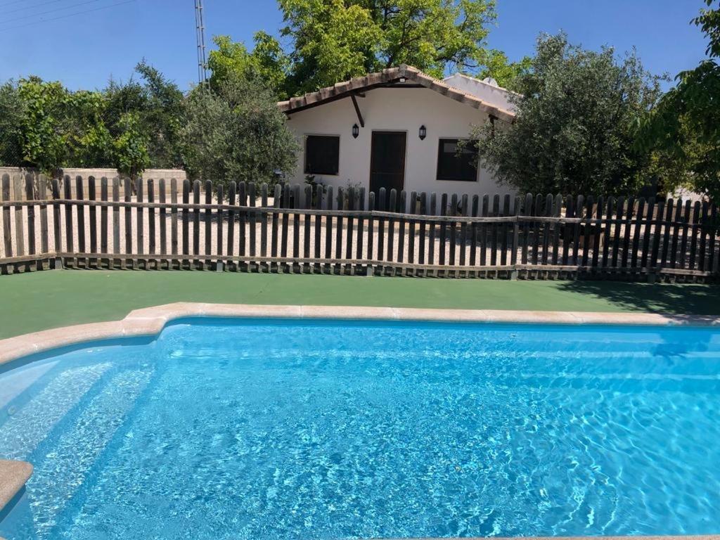
{"label": "dark tree shadow on the green deck at right", "polygon": [[720,285],[563,282],[559,291],[587,294],[625,310],[671,315],[720,315]]}

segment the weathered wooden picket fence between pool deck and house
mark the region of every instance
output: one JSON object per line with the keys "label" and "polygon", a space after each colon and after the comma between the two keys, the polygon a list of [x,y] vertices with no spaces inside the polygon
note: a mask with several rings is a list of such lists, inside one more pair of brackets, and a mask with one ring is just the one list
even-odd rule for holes
{"label": "weathered wooden picket fence between pool deck and house", "polygon": [[27,180],[1,178],[3,274],[64,266],[708,281],[719,268],[716,208],[706,202]]}

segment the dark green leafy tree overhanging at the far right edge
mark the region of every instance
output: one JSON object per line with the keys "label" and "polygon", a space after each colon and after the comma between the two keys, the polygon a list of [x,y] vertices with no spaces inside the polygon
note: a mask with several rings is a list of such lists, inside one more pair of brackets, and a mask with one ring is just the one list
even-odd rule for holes
{"label": "dark green leafy tree overhanging at the far right edge", "polygon": [[705,0],[693,24],[708,37],[708,58],[678,74],[678,84],[638,122],[637,147],[689,172],[690,186],[720,201],[720,2]]}

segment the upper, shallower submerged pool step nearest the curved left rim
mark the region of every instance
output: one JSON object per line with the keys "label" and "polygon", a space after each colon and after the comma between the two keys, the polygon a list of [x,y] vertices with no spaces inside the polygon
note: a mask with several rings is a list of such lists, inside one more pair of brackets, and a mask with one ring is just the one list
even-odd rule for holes
{"label": "upper, shallower submerged pool step nearest the curved left rim", "polygon": [[86,392],[109,369],[94,364],[58,374],[0,426],[0,458],[27,459]]}

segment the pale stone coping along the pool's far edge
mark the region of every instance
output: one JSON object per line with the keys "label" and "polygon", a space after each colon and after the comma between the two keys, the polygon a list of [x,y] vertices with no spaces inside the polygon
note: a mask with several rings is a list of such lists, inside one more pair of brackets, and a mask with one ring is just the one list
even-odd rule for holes
{"label": "pale stone coping along the pool's far edge", "polygon": [[131,311],[124,319],[41,330],[0,340],[0,365],[63,346],[132,336],[157,336],[173,320],[192,317],[416,320],[566,325],[716,326],[714,315],[577,311],[446,310],[415,307],[209,304],[175,302]]}

